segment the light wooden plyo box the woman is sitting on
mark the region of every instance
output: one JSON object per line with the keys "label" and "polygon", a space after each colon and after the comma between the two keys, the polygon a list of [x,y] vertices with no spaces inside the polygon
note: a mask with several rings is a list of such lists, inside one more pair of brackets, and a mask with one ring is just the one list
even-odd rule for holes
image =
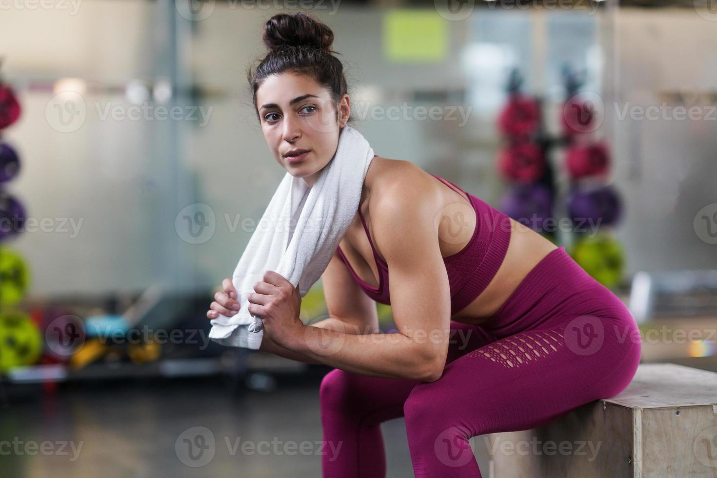
{"label": "light wooden plyo box the woman is sitting on", "polygon": [[490,478],[717,478],[717,373],[641,364],[617,396],[476,439]]}

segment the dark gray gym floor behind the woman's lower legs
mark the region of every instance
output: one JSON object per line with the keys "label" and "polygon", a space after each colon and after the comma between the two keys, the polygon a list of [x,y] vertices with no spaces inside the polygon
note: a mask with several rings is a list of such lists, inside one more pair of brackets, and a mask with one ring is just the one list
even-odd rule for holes
{"label": "dark gray gym floor behind the woman's lower legs", "polygon": [[[0,476],[319,477],[319,384],[320,376],[281,379],[275,391],[265,393],[232,391],[222,378],[202,378],[72,384],[52,394],[27,393],[0,412],[2,436],[21,450],[2,457]],[[214,437],[208,448],[214,456],[196,459],[197,454],[192,462],[181,441],[190,436],[209,446],[206,429]],[[404,420],[387,421],[381,430],[387,476],[413,476]],[[57,447],[57,454],[43,455],[43,441],[52,441],[47,446]],[[27,447],[33,442],[37,449]]]}

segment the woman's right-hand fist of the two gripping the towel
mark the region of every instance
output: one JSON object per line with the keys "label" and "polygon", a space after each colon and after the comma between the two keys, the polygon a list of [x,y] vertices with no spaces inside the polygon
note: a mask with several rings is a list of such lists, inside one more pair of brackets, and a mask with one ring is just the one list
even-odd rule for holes
{"label": "woman's right-hand fist of the two gripping the towel", "polygon": [[271,340],[293,350],[298,340],[303,340],[306,328],[299,319],[301,295],[298,287],[278,272],[267,271],[264,280],[254,285],[254,290],[247,296],[249,312],[262,317],[265,332]]}

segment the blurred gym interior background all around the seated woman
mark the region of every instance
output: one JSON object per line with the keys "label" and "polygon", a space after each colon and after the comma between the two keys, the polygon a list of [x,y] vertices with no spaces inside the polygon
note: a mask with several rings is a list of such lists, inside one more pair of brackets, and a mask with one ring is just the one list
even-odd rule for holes
{"label": "blurred gym interior background all around the seated woman", "polygon": [[[708,3],[0,0],[0,476],[320,476],[331,368],[206,337],[284,173],[246,70],[300,8],[376,153],[566,246],[630,306],[644,363],[717,371]],[[323,314],[318,282],[302,319]],[[382,429],[412,476],[402,420]]]}

